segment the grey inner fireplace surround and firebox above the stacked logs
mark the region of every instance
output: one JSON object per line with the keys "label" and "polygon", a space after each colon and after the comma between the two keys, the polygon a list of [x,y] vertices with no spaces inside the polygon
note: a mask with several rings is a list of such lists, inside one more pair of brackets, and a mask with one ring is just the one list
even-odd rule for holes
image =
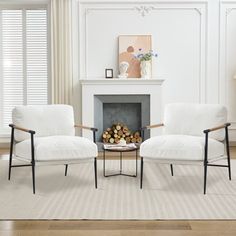
{"label": "grey inner fireplace surround and firebox above the stacked logs", "polygon": [[[150,123],[150,95],[95,95],[94,125],[98,128],[97,142],[104,129],[113,123],[124,123],[136,131]],[[145,133],[145,139],[150,137]]]}

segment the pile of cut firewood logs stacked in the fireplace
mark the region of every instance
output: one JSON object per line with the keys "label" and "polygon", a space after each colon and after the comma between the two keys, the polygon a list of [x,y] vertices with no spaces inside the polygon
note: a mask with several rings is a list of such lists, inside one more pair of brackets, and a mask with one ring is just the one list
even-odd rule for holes
{"label": "pile of cut firewood logs stacked in the fireplace", "polygon": [[126,143],[141,143],[142,138],[140,132],[132,133],[126,125],[117,123],[113,124],[111,128],[103,131],[102,140],[104,143],[119,143],[123,139]]}

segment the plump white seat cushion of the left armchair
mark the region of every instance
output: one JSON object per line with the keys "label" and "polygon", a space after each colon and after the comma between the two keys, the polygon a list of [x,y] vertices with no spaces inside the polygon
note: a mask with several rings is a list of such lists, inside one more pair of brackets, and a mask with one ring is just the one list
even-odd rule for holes
{"label": "plump white seat cushion of the left armchair", "polygon": [[[49,136],[34,139],[36,161],[73,161],[93,158],[97,145],[87,138],[77,136]],[[30,139],[17,143],[15,155],[31,160]]]}

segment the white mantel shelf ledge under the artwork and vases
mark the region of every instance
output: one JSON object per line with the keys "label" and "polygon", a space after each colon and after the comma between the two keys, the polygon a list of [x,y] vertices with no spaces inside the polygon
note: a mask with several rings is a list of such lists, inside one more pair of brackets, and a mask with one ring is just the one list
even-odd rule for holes
{"label": "white mantel shelf ledge under the artwork and vases", "polygon": [[120,78],[86,78],[80,80],[83,85],[145,85],[145,84],[155,84],[161,85],[164,82],[163,77],[151,78],[151,79],[142,79],[142,78],[128,78],[128,79],[120,79]]}

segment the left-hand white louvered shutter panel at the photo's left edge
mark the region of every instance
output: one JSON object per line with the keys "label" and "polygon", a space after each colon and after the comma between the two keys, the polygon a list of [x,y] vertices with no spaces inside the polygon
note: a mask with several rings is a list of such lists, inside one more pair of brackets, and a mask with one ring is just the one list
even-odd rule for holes
{"label": "left-hand white louvered shutter panel at the photo's left edge", "polygon": [[14,106],[23,104],[22,10],[2,10],[2,122],[11,121]]}

